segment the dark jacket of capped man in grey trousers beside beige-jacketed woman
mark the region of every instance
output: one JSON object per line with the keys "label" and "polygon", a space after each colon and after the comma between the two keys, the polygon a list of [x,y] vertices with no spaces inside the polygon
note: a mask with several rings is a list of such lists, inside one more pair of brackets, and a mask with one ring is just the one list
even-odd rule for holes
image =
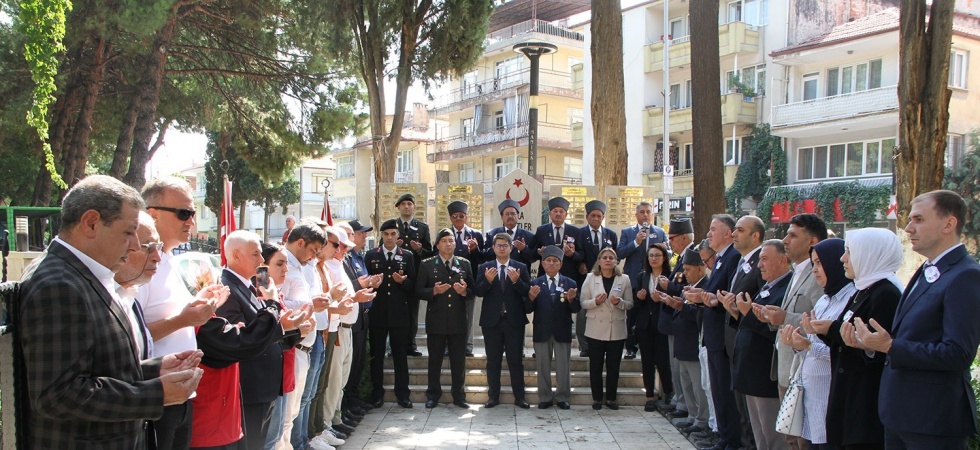
{"label": "dark jacket of capped man in grey trousers beside beige-jacketed woman", "polygon": [[556,342],[572,342],[572,315],[582,310],[578,296],[572,300],[563,298],[569,289],[575,289],[575,280],[558,274],[558,288],[554,295],[548,287],[548,276],[542,275],[531,282],[540,286],[538,297],[531,301],[534,306],[534,342],[546,342],[552,336]]}

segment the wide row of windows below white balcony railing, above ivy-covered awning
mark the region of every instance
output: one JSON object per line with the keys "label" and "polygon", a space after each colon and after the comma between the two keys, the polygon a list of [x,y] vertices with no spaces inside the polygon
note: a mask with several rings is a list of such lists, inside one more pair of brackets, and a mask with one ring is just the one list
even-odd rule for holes
{"label": "wide row of windows below white balcony railing, above ivy-covered awning", "polygon": [[806,147],[797,149],[796,178],[860,177],[892,172],[895,139]]}

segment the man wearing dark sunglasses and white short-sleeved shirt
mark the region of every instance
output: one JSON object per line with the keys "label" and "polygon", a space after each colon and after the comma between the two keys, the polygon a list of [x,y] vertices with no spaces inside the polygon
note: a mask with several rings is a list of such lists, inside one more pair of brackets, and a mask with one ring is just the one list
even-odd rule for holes
{"label": "man wearing dark sunglasses and white short-sleeved shirt", "polygon": [[[217,299],[191,295],[173,263],[173,250],[190,240],[196,224],[191,192],[187,181],[177,177],[158,178],[143,187],[146,212],[153,218],[163,244],[156,275],[139,288],[137,295],[153,337],[154,357],[197,349],[194,327],[207,322],[217,308]],[[189,448],[192,420],[191,402],[164,408],[163,417],[153,424],[157,448]]]}

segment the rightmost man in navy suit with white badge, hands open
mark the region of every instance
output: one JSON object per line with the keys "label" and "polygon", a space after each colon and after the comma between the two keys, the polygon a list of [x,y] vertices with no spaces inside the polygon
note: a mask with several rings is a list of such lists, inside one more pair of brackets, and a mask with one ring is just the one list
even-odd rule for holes
{"label": "rightmost man in navy suit with white badge, hands open", "polygon": [[878,414],[889,449],[963,449],[977,432],[970,364],[980,345],[980,265],[960,242],[966,211],[952,191],[912,199],[905,232],[926,262],[902,294],[891,333],[873,319],[841,327],[848,345],[887,354]]}

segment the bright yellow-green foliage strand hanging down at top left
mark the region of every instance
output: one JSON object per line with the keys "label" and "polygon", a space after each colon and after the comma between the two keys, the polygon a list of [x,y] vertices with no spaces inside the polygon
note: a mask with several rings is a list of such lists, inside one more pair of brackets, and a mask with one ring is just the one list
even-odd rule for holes
{"label": "bright yellow-green foliage strand hanging down at top left", "polygon": [[22,0],[20,2],[20,26],[27,37],[24,58],[34,79],[34,101],[27,113],[27,123],[37,130],[44,150],[44,167],[51,179],[62,188],[68,185],[58,175],[54,165],[54,153],[48,141],[48,105],[54,102],[57,90],[58,55],[65,51],[65,21],[71,11],[70,0]]}

